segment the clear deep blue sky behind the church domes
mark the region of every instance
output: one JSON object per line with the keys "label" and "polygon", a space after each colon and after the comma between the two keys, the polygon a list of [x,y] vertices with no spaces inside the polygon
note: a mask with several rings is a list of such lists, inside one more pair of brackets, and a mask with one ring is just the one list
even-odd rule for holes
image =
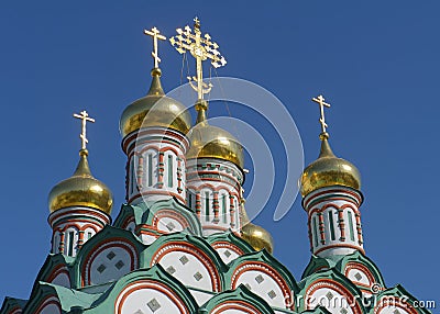
{"label": "clear deep blue sky behind the church domes", "polygon": [[[323,93],[332,103],[332,148],[363,177],[366,255],[387,285],[402,283],[439,303],[440,3],[154,3],[0,2],[0,299],[28,299],[50,250],[47,194],[75,169],[80,143],[72,114],[82,109],[97,120],[89,128],[89,161],[114,193],[116,216],[125,167],[119,117],[150,85],[151,41],[142,31],[156,25],[170,36],[198,15],[228,59],[219,75],[253,81],[289,110],[306,164],[319,153],[319,111],[310,98]],[[182,56],[161,47],[169,90],[180,83]],[[212,114],[226,111],[219,104]],[[230,111],[243,115],[240,106]],[[266,127],[256,115],[251,120]],[[266,141],[277,155],[277,139]],[[306,213],[297,200],[282,221],[273,221],[286,166],[276,162],[275,189],[255,222],[272,232],[275,256],[299,280],[310,257]]]}

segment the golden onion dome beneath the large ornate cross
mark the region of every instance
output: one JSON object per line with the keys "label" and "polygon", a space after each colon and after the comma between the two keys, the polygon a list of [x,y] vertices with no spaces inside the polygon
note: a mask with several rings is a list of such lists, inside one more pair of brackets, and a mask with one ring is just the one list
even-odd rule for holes
{"label": "golden onion dome beneath the large ornate cross", "polygon": [[186,159],[217,158],[231,161],[243,169],[243,147],[239,139],[223,128],[209,125],[205,116],[207,108],[206,101],[196,104],[197,124],[187,134],[190,147]]}

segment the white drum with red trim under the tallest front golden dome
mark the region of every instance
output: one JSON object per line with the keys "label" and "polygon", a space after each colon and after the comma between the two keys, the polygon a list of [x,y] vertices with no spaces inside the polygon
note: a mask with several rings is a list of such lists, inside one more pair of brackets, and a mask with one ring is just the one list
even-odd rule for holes
{"label": "white drum with red trim under the tallest front golden dome", "polygon": [[188,139],[180,133],[150,127],[127,136],[122,148],[128,156],[127,201],[166,200],[186,203],[185,153]]}

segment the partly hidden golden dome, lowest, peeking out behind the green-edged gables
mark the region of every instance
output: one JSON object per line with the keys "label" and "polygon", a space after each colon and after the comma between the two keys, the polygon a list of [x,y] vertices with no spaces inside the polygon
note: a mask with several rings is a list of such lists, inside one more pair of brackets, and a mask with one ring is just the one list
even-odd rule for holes
{"label": "partly hidden golden dome, lowest, peeking out behind the green-edged gables", "polygon": [[274,253],[274,239],[272,235],[263,227],[255,225],[249,221],[248,213],[242,210],[241,237],[248,242],[255,250],[265,248],[268,253]]}

